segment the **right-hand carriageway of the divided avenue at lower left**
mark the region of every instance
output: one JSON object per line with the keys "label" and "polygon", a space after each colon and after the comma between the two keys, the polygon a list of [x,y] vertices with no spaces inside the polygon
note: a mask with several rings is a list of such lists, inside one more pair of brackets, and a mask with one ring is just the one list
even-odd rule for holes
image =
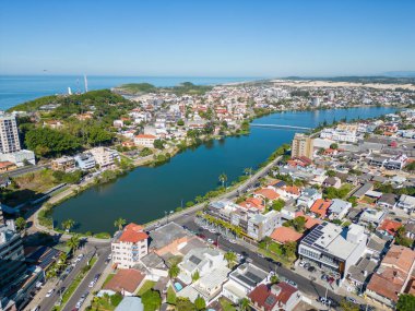
{"label": "right-hand carriageway of the divided avenue at lower left", "polygon": [[73,292],[72,297],[68,300],[67,306],[62,309],[63,311],[71,311],[75,308],[76,302],[81,299],[81,296],[86,294],[91,295],[91,288],[88,287],[91,280],[95,277],[96,274],[102,274],[107,266],[105,263],[106,259],[108,258],[109,253],[111,252],[111,249],[109,246],[100,247],[96,251],[96,255],[98,256],[98,260],[94,264],[94,266],[91,268],[91,271],[86,274],[84,279],[81,282],[81,284],[78,286],[76,290]]}

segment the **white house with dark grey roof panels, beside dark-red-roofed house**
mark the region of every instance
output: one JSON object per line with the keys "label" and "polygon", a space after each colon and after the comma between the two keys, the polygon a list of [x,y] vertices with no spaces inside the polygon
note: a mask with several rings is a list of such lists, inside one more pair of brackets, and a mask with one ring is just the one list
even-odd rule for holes
{"label": "white house with dark grey roof panels, beside dark-red-roofed house", "polygon": [[264,284],[269,273],[251,263],[239,265],[229,274],[229,279],[223,285],[222,295],[234,303],[246,298],[258,285]]}

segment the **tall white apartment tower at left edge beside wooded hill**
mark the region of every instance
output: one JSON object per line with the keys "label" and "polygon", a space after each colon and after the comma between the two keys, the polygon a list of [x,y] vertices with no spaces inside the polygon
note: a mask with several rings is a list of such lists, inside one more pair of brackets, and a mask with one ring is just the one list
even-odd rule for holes
{"label": "tall white apartment tower at left edge beside wooded hill", "polygon": [[12,115],[0,115],[0,153],[20,152],[16,118]]}

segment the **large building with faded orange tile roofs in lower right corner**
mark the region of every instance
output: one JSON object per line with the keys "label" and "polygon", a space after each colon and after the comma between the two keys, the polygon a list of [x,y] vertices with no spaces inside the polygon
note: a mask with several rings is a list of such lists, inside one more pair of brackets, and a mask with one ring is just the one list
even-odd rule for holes
{"label": "large building with faded orange tile roofs in lower right corner", "polygon": [[395,308],[399,295],[405,294],[414,266],[415,252],[413,250],[392,246],[367,285],[367,297],[386,307]]}

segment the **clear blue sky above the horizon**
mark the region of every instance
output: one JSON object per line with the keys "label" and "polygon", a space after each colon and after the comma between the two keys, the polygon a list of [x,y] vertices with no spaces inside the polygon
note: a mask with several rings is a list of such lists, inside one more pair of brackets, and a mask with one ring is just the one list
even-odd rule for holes
{"label": "clear blue sky above the horizon", "polygon": [[0,74],[415,70],[415,1],[2,1]]}

